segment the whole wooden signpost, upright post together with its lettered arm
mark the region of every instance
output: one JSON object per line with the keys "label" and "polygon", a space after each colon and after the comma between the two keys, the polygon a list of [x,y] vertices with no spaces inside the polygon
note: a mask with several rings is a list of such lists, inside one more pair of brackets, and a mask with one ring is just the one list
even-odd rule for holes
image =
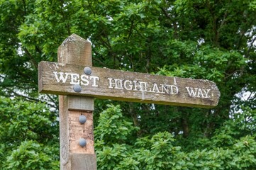
{"label": "whole wooden signpost, upright post together with its lettered arm", "polygon": [[[75,34],[60,45],[58,62],[40,62],[38,72],[40,93],[63,95],[61,169],[96,169],[93,97],[200,108],[213,108],[220,98],[218,87],[208,80],[92,67],[90,42]],[[85,123],[79,122],[82,116]]]}

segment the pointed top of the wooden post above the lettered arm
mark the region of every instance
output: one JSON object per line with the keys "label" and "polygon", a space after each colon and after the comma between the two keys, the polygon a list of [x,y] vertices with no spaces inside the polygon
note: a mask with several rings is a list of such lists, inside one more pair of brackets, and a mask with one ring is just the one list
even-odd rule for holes
{"label": "pointed top of the wooden post above the lettered arm", "polygon": [[92,66],[91,42],[72,34],[58,47],[57,57],[60,63]]}

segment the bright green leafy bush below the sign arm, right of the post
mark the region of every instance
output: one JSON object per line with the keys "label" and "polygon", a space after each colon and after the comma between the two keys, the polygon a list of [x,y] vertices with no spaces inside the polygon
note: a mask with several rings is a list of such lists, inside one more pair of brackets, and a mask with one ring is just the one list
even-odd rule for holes
{"label": "bright green leafy bush below the sign arm, right of the post", "polygon": [[[119,106],[108,107],[101,113],[99,120],[117,113],[119,116],[112,118],[111,122],[118,123],[123,117]],[[255,111],[252,113],[255,115]],[[243,118],[245,117],[247,116]],[[243,118],[240,120],[244,120]],[[201,149],[189,152],[175,145],[174,136],[169,132],[158,132],[152,137],[139,137],[133,143],[130,143],[128,138],[122,140],[122,144],[119,144],[118,140],[96,140],[98,169],[253,169],[256,166],[255,135],[244,134],[244,131],[252,128],[250,126],[243,126],[239,131],[232,130],[237,127],[234,124],[241,123],[240,120],[228,121],[218,129],[220,132],[217,135],[204,140]],[[106,125],[108,123],[102,121],[96,129],[106,128]],[[125,128],[130,132],[134,130],[128,122]],[[227,130],[230,130],[231,134]],[[107,133],[101,132],[103,134],[96,133],[96,137],[105,136]],[[239,135],[243,137],[238,137]]]}

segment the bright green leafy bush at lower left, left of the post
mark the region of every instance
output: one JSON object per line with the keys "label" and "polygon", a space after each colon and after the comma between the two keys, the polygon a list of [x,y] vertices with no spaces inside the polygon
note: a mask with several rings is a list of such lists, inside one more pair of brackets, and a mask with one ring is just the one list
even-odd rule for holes
{"label": "bright green leafy bush at lower left, left of the post", "polygon": [[0,99],[0,169],[59,169],[55,115],[43,103]]}

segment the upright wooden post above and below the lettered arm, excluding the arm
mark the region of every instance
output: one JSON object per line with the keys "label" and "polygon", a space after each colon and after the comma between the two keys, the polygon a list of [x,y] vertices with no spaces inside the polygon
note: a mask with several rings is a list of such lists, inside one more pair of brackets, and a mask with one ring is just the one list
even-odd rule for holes
{"label": "upright wooden post above and below the lettered arm, excluding the arm", "polygon": [[[92,66],[91,43],[72,34],[58,48],[58,62]],[[60,169],[96,169],[94,153],[94,98],[87,96],[59,96],[60,104]],[[79,123],[79,115],[87,122]],[[79,139],[87,140],[81,147]]]}

